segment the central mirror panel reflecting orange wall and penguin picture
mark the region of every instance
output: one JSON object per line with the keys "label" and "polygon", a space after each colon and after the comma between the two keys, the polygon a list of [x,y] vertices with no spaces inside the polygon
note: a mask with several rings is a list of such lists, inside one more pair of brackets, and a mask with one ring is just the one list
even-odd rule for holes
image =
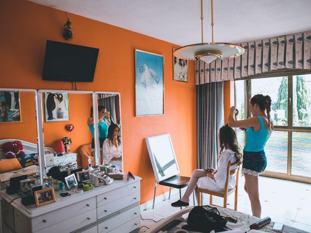
{"label": "central mirror panel reflecting orange wall and penguin picture", "polygon": [[55,150],[54,157],[45,154],[47,172],[53,166],[86,169],[94,166],[96,152],[91,150],[93,125],[88,125],[93,105],[91,91],[39,90],[41,145]]}

